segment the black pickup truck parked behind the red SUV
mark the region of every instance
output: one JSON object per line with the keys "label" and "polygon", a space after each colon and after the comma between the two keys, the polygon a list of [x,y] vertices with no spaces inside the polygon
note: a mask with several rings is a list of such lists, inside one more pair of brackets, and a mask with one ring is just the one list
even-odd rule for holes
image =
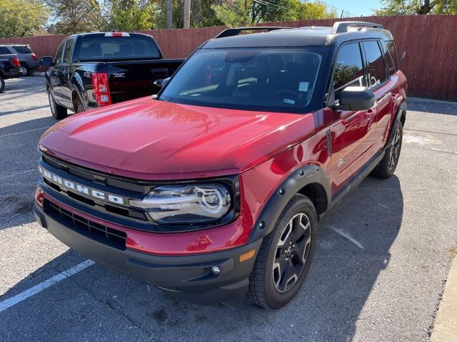
{"label": "black pickup truck parked behind the red SUV", "polygon": [[[171,76],[184,59],[163,59],[152,36],[142,33],[83,33],[66,38],[56,56],[41,57],[51,113],[80,113],[125,100],[153,95],[161,79]],[[159,83],[155,83],[158,81]]]}

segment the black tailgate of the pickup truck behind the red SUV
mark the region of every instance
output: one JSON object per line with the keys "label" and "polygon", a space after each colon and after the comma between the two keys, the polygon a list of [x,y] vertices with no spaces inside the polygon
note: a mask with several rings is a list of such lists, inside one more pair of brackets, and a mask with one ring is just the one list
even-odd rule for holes
{"label": "black tailgate of the pickup truck behind the red SUV", "polygon": [[106,62],[112,103],[153,95],[160,88],[154,81],[167,78],[184,59]]}

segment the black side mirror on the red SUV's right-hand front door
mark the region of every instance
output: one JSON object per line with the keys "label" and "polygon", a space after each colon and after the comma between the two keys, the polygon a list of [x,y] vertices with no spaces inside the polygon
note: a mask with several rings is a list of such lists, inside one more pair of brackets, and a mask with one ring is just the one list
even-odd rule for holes
{"label": "black side mirror on the red SUV's right-hand front door", "polygon": [[341,90],[334,110],[368,110],[374,105],[374,94],[366,87],[346,87]]}

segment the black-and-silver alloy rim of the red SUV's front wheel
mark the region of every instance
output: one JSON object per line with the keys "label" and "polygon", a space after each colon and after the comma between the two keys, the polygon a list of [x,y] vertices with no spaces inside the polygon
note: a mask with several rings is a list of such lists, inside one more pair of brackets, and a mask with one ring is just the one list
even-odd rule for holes
{"label": "black-and-silver alloy rim of the red SUV's front wheel", "polygon": [[273,283],[278,292],[287,292],[300,278],[311,248],[311,223],[298,213],[284,227],[273,261]]}

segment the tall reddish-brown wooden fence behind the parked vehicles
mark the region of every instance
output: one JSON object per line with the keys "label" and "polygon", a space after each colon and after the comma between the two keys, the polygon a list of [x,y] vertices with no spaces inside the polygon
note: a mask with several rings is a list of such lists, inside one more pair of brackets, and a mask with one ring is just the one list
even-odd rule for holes
{"label": "tall reddish-brown wooden fence behind the parked vehicles", "polygon": [[[275,26],[331,26],[337,19],[286,21]],[[393,33],[409,95],[457,100],[457,16],[378,16],[345,20],[373,21]],[[271,24],[271,23],[270,23]],[[268,25],[268,24],[263,24]],[[166,58],[185,58],[224,27],[148,30]],[[0,43],[28,43],[37,56],[53,56],[64,35],[4,38]]]}

